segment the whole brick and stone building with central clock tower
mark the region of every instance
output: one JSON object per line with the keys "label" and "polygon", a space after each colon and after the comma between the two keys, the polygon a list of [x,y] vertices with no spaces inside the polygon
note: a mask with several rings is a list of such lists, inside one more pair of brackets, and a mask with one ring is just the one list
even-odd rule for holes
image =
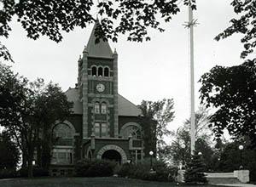
{"label": "whole brick and stone building with central clock tower", "polygon": [[95,42],[97,24],[78,61],[78,83],[66,93],[73,114],[52,129],[52,174],[68,174],[84,158],[121,164],[144,156],[141,111],[118,94],[118,54],[108,42]]}

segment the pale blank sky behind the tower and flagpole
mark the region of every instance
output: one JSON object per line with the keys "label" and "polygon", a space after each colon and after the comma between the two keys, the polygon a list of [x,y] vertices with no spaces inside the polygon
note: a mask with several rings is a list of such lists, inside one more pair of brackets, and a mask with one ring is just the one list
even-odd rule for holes
{"label": "pale blank sky behind the tower and flagpole", "polygon": [[[215,65],[239,65],[242,45],[239,36],[216,42],[219,32],[236,17],[230,0],[197,0],[195,27],[195,110],[200,105],[198,80]],[[144,100],[174,99],[175,118],[169,124],[172,130],[189,118],[189,31],[188,8],[173,16],[169,23],[161,23],[165,32],[149,30],[150,42],[109,42],[119,54],[119,94],[135,105]],[[44,78],[45,82],[59,83],[63,91],[73,88],[78,77],[78,59],[87,44],[92,29],[76,28],[63,34],[56,43],[47,37],[34,41],[26,37],[19,23],[13,21],[8,39],[2,39],[9,48],[15,64],[13,70],[29,78]],[[8,63],[10,65],[10,63]]]}

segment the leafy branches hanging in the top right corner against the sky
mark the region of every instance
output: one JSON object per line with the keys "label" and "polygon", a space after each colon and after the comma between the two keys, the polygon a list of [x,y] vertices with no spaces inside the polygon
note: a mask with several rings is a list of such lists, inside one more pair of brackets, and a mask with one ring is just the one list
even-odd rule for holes
{"label": "leafy branches hanging in the top right corner against the sky", "polygon": [[233,0],[231,6],[234,8],[234,12],[239,15],[238,19],[233,18],[230,20],[231,26],[218,34],[215,39],[218,41],[220,39],[230,37],[235,33],[240,33],[242,36],[241,42],[244,47],[244,50],[241,52],[241,58],[244,59],[248,54],[252,54],[256,47],[256,5],[254,0]]}

